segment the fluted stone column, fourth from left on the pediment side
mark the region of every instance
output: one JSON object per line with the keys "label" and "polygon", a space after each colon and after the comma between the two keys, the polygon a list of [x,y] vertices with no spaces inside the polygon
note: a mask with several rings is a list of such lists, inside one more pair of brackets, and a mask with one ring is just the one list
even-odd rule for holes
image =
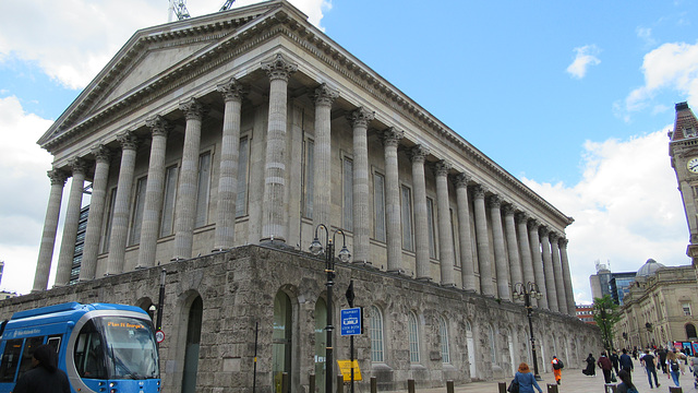
{"label": "fluted stone column, fourth from left on the pediment side", "polygon": [[113,202],[111,219],[111,237],[109,238],[109,257],[105,275],[123,272],[127,253],[127,236],[129,234],[129,215],[131,213],[131,190],[133,189],[133,170],[137,139],[133,132],[127,131],[117,136],[121,143],[121,165],[119,166],[119,183]]}

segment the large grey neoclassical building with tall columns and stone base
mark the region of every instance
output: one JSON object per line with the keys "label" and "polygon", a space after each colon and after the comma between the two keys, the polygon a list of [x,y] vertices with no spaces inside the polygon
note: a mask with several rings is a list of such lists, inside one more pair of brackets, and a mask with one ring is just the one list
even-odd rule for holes
{"label": "large grey neoclassical building with tall columns and stone base", "polygon": [[288,372],[290,391],[310,376],[324,391],[325,266],[306,252],[320,224],[352,254],[335,294],[353,281],[365,310],[362,383],[510,376],[531,361],[517,283],[542,294],[541,368],[601,346],[574,318],[571,217],[285,0],[136,32],[38,143],[55,160],[34,290],[0,311],[149,308],[164,269],[168,391],[250,392],[255,333],[257,389],[280,392]]}

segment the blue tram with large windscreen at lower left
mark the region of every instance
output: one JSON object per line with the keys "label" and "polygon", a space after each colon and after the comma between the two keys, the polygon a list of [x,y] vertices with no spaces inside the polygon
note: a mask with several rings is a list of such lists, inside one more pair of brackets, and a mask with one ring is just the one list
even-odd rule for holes
{"label": "blue tram with large windscreen at lower left", "polygon": [[0,325],[0,393],[51,345],[72,392],[155,393],[160,367],[151,317],[133,306],[67,302],[15,312]]}

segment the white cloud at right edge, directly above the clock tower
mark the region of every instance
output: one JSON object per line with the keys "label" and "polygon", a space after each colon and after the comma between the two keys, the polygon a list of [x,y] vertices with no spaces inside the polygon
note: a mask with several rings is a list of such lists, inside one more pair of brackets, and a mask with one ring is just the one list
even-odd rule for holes
{"label": "white cloud at right edge, directly above the clock tower", "polygon": [[673,90],[698,100],[698,43],[670,43],[645,55],[642,61],[645,85],[625,98],[626,112],[643,110],[657,93]]}

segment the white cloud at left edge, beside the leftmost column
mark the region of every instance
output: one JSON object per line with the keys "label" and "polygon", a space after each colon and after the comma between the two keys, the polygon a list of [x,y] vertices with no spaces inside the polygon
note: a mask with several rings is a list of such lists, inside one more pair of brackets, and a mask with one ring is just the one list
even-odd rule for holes
{"label": "white cloud at left edge, beside the leftmost column", "polygon": [[[26,114],[16,97],[0,98],[0,260],[5,262],[3,289],[32,289],[44,227],[51,155],[36,140],[50,120]],[[60,236],[59,236],[60,238]],[[58,249],[58,248],[57,248]]]}

